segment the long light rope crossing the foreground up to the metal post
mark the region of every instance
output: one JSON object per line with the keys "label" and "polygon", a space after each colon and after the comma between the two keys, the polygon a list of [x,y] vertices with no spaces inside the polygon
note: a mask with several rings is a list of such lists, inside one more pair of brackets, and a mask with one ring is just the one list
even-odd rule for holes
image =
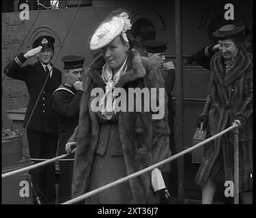
{"label": "long light rope crossing the foreground up to the metal post", "polygon": [[180,153],[177,153],[176,155],[173,155],[167,159],[164,159],[163,161],[160,161],[152,166],[149,166],[143,170],[140,170],[138,172],[135,172],[134,174],[130,174],[129,176],[126,176],[124,178],[120,178],[118,179],[117,181],[114,181],[113,183],[109,183],[107,185],[104,185],[98,189],[95,189],[93,191],[89,191],[88,193],[85,193],[84,195],[82,196],[79,196],[77,198],[73,198],[72,200],[68,200],[67,202],[63,202],[62,204],[74,204],[76,202],[80,202],[81,200],[85,200],[85,198],[89,198],[91,196],[94,196],[96,193],[99,193],[100,191],[104,191],[106,189],[109,189],[110,187],[113,187],[115,185],[119,185],[120,183],[124,183],[126,181],[128,181],[129,179],[131,178],[134,178],[134,177],[137,177],[145,172],[148,172],[150,170],[154,170],[154,168],[158,168],[159,166],[165,164],[165,163],[168,163],[169,161],[173,161],[173,159],[176,159],[177,157],[180,157],[182,155],[185,155],[186,153],[189,153],[190,151],[193,151],[195,149],[197,149],[199,146],[202,146],[203,144],[206,144],[212,140],[214,140],[215,138],[218,138],[219,136],[222,136],[223,134],[227,133],[228,131],[231,131],[232,129],[235,129],[236,127],[238,127],[238,124],[237,123],[233,123],[233,125],[231,125],[231,127],[228,127],[227,129],[221,131],[220,133],[204,140],[203,142],[200,142],[198,144],[195,144],[195,146],[192,146]]}

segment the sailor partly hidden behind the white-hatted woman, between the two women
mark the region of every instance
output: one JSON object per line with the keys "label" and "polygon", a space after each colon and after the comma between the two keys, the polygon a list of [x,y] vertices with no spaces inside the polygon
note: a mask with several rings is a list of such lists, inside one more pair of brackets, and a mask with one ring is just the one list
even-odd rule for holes
{"label": "sailor partly hidden behind the white-hatted woman, between the two women", "polygon": [[[174,116],[175,110],[173,105],[173,99],[171,98],[171,91],[175,82],[175,67],[172,61],[165,62],[165,51],[167,50],[167,42],[160,42],[155,40],[146,40],[143,42],[147,57],[155,63],[160,69],[162,78],[165,80],[165,91],[168,95],[168,120],[170,127],[169,143],[171,153],[174,155],[176,152],[175,139],[174,139]],[[165,177],[165,174],[163,175]],[[171,181],[169,178],[171,177]],[[172,196],[176,196],[177,191],[177,162],[171,161],[171,176],[166,179],[167,185],[171,184],[169,190]]]}

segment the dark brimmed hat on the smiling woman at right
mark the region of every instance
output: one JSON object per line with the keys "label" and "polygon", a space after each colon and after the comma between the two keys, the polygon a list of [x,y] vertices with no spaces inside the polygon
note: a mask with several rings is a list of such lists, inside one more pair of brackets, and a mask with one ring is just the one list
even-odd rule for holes
{"label": "dark brimmed hat on the smiling woman at right", "polygon": [[229,24],[221,27],[212,33],[212,35],[216,40],[227,40],[238,35],[245,37],[245,27]]}

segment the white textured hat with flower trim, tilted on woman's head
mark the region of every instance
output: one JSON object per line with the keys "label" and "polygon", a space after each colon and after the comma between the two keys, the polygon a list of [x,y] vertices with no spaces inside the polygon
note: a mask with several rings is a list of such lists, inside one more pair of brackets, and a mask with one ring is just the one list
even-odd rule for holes
{"label": "white textured hat with flower trim, tilted on woman's head", "polygon": [[130,24],[130,19],[126,12],[122,12],[118,16],[113,16],[113,18],[107,22],[102,22],[91,37],[91,50],[106,46],[120,34],[122,34],[124,40],[128,42],[126,31],[131,29],[131,27],[132,25]]}

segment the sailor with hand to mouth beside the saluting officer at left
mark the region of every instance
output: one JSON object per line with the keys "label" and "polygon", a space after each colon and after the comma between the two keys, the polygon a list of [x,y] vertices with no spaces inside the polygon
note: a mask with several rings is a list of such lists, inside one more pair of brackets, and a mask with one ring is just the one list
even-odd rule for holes
{"label": "sailor with hand to mouth beside the saluting officer at left", "polygon": [[[85,58],[75,55],[63,57],[66,82],[53,93],[52,106],[57,114],[59,130],[58,155],[66,153],[66,142],[79,123],[80,99],[83,95],[81,76]],[[58,202],[71,199],[71,181],[74,154],[69,159],[59,160],[59,194]]]}

